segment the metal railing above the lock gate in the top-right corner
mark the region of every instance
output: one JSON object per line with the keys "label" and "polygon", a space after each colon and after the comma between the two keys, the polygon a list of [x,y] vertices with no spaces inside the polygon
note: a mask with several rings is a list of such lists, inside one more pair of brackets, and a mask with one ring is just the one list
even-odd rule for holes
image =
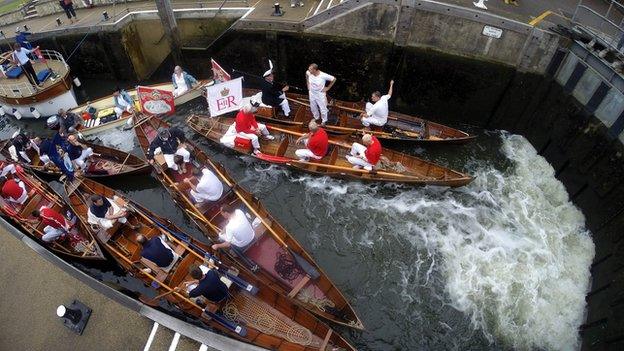
{"label": "metal railing above the lock gate in the top-right corner", "polygon": [[[579,4],[572,16],[572,24],[585,29],[612,49],[624,53],[624,5],[611,0],[606,11],[597,6]],[[604,10],[604,9],[603,9]]]}

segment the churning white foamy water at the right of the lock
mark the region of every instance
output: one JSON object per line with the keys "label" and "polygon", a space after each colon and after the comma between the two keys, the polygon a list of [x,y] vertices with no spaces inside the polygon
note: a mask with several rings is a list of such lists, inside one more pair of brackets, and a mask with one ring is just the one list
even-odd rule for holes
{"label": "churning white foamy water at the right of the lock", "polygon": [[590,233],[546,160],[521,136],[501,138],[508,167],[475,164],[475,181],[460,189],[298,180],[308,190],[306,206],[320,201],[329,209],[309,215],[344,228],[351,245],[416,250],[416,257],[387,258],[402,267],[406,302],[438,276],[442,302],[469,316],[490,342],[576,349],[594,256]]}

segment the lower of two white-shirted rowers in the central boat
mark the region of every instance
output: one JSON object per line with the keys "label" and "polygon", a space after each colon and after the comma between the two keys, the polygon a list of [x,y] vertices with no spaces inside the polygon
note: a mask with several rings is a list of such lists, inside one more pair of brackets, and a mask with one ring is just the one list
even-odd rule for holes
{"label": "lower of two white-shirted rowers in the central boat", "polygon": [[228,223],[225,225],[223,231],[219,233],[219,239],[223,242],[212,245],[213,250],[229,248],[231,246],[244,249],[247,245],[251,244],[255,233],[253,226],[243,211],[234,208],[232,205],[224,205],[221,207],[221,215]]}

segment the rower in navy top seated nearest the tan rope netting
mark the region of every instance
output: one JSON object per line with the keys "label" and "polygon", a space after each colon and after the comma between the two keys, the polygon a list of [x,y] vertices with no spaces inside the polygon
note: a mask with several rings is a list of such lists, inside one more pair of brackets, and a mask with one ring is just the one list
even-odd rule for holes
{"label": "rower in navy top seated nearest the tan rope netting", "polygon": [[193,280],[182,283],[175,290],[190,298],[203,297],[214,303],[223,301],[228,296],[228,287],[221,281],[216,269],[211,260],[207,261],[207,266],[191,266],[189,274]]}

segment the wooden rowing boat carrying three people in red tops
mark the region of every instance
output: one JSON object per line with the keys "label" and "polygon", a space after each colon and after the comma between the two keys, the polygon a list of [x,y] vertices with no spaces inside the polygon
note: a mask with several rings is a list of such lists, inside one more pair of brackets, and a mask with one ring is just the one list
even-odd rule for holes
{"label": "wooden rowing boat carrying three people in red tops", "polygon": [[[303,113],[303,110],[299,110],[299,113]],[[200,115],[192,115],[187,123],[197,133],[222,147],[227,147],[219,141],[234,123],[234,119],[204,118]],[[329,136],[330,149],[327,156],[321,160],[300,161],[295,151],[303,148],[302,145],[296,144],[296,140],[305,133],[303,126],[267,125],[267,127],[275,139],[262,140],[260,138],[260,154],[249,154],[248,150],[236,147],[231,149],[266,162],[283,164],[304,172],[336,178],[451,187],[463,186],[472,181],[469,175],[390,149],[383,150],[382,157],[385,159],[380,161],[378,169],[373,171],[355,169],[346,159],[351,150],[351,140],[346,135]]]}

